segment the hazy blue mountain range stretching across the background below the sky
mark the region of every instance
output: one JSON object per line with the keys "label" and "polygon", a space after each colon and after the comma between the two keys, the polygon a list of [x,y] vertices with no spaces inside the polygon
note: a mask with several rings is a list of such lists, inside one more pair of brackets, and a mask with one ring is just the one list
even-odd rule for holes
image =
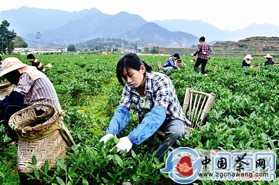
{"label": "hazy blue mountain range stretching across the background below the sky", "polygon": [[147,22],[141,16],[120,12],[103,14],[92,8],[80,12],[21,7],[1,12],[1,21],[26,40],[29,47],[38,46],[37,32],[43,47],[77,44],[96,38],[115,38],[143,44],[168,46],[173,43],[192,46],[200,36],[206,42],[236,41],[249,36],[278,36],[278,27],[252,24],[243,30],[222,31],[199,20],[164,20]]}

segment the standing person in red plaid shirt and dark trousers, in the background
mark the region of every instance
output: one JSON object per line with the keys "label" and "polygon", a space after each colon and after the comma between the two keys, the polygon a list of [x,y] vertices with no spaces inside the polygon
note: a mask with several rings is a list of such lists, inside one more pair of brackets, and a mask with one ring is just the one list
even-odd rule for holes
{"label": "standing person in red plaid shirt and dark trousers, in the background", "polygon": [[199,38],[199,44],[197,46],[197,49],[195,53],[191,54],[191,57],[196,56],[198,54],[198,58],[194,66],[194,69],[197,73],[199,73],[199,65],[201,64],[201,73],[207,76],[207,74],[205,73],[205,66],[207,64],[207,61],[210,59],[211,52],[212,49],[209,44],[205,43],[204,36]]}

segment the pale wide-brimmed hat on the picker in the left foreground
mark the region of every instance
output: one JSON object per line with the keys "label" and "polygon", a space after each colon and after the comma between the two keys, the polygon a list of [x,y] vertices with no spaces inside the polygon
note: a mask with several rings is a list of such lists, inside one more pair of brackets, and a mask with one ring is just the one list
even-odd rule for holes
{"label": "pale wide-brimmed hat on the picker in the left foreground", "polygon": [[8,57],[2,63],[2,70],[0,77],[6,75],[8,72],[27,66],[16,57]]}

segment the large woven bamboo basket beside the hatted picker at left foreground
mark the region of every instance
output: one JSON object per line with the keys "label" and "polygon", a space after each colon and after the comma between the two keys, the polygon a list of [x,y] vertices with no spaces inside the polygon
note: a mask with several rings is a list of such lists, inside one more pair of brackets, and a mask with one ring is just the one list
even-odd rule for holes
{"label": "large woven bamboo basket beside the hatted picker at left foreground", "polygon": [[[46,107],[48,110],[37,116],[36,107]],[[28,168],[32,166],[29,164],[32,156],[37,158],[37,167],[41,169],[46,160],[50,168],[56,168],[56,158],[65,159],[68,146],[75,144],[68,129],[59,120],[58,109],[51,104],[30,105],[19,110],[10,118],[9,126],[19,137],[17,167],[20,173],[33,172]]]}

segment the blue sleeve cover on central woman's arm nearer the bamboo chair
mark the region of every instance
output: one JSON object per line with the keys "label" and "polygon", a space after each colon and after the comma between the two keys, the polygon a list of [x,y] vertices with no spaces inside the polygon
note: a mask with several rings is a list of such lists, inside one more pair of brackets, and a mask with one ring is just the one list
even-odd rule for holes
{"label": "blue sleeve cover on central woman's arm nearer the bamboo chair", "polygon": [[132,144],[141,144],[160,128],[165,121],[165,118],[165,108],[155,105],[151,111],[146,114],[142,123],[129,133],[128,138]]}

